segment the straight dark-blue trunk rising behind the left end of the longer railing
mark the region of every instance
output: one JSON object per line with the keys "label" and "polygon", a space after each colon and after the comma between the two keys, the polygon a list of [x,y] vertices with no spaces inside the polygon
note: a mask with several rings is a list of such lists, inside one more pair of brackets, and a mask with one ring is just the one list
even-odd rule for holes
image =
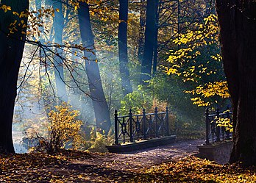
{"label": "straight dark-blue trunk rising behind the left end of the longer railing", "polygon": [[118,53],[121,83],[124,96],[132,93],[132,85],[129,80],[128,55],[127,55],[127,20],[128,0],[119,0],[119,25],[118,25]]}

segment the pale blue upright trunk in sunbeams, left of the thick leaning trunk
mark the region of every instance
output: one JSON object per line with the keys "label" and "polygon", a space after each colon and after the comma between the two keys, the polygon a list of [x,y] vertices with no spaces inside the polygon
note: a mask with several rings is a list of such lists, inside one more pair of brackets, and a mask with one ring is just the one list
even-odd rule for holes
{"label": "pale blue upright trunk in sunbeams, left of the thick leaning trunk", "polygon": [[[55,12],[54,16],[54,42],[63,45],[63,29],[64,29],[64,15],[63,3],[61,1],[53,1],[53,8],[59,9],[60,12]],[[56,49],[54,55],[54,76],[57,88],[57,98],[60,101],[68,101],[67,92],[64,82],[64,69],[63,69],[63,49]]]}

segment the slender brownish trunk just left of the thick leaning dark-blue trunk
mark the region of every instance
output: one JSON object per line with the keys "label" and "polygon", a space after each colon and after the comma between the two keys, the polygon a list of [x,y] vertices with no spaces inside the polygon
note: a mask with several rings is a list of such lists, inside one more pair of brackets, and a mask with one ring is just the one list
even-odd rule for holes
{"label": "slender brownish trunk just left of the thick leaning dark-blue trunk", "polygon": [[145,33],[145,0],[141,0],[141,10],[140,10],[140,29],[138,38],[138,61],[142,63],[143,52],[144,52],[144,33]]}

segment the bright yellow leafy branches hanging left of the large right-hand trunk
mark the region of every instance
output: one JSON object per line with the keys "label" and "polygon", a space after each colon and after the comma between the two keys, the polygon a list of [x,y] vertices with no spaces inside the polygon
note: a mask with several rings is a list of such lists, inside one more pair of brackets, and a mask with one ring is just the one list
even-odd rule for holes
{"label": "bright yellow leafy branches hanging left of the large right-hand trunk", "polygon": [[209,106],[230,96],[221,64],[218,33],[216,15],[204,18],[202,24],[194,23],[191,30],[174,40],[178,49],[171,51],[170,67],[165,67],[168,75],[196,83],[196,89],[186,93],[193,95],[191,100],[198,106]]}

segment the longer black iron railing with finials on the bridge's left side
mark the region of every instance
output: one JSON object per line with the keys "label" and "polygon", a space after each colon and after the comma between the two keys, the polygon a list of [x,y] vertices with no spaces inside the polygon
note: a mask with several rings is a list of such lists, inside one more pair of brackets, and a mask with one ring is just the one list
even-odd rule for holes
{"label": "longer black iron railing with finials on the bridge's left side", "polygon": [[129,110],[129,115],[118,116],[115,110],[115,145],[168,135],[168,107],[166,112],[158,112],[156,107],[154,113],[148,114],[143,109],[142,115],[133,115]]}

